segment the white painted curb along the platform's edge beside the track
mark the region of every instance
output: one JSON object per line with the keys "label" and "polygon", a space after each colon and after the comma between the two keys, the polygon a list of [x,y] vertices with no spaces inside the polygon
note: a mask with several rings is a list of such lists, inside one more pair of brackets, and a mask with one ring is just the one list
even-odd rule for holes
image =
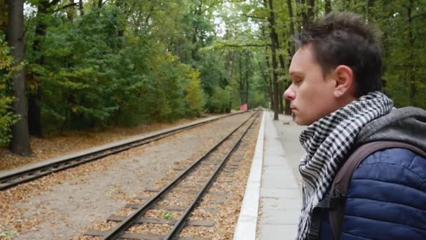
{"label": "white painted curb along the platform's edge beside the track", "polygon": [[257,217],[259,213],[259,200],[261,192],[261,178],[263,165],[263,142],[265,139],[265,114],[263,112],[259,135],[257,136],[256,149],[250,168],[241,211],[235,226],[234,240],[256,239]]}

